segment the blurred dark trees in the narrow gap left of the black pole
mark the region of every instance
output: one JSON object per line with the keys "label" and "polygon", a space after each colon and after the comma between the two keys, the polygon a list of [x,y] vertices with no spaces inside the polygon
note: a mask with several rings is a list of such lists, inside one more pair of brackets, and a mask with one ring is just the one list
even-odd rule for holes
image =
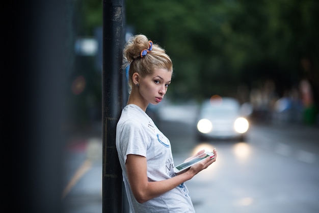
{"label": "blurred dark trees in the narrow gap left of the black pole", "polygon": [[102,2],[71,1],[73,14],[69,31],[72,63],[67,75],[67,128],[87,128],[91,122],[101,120],[101,72],[94,56],[77,55],[74,45],[77,38],[94,37],[94,30],[102,25]]}

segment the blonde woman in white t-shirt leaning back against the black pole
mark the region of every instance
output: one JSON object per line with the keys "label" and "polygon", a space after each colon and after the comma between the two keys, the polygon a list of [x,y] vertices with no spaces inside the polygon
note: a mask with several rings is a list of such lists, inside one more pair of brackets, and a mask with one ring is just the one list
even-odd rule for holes
{"label": "blonde woman in white t-shirt leaning back against the black pole", "polygon": [[216,150],[215,158],[181,174],[174,172],[170,141],[145,113],[148,104],[163,100],[172,79],[172,61],[144,35],[132,37],[123,54],[124,66],[129,65],[130,94],[117,124],[116,147],[131,211],[195,212],[184,182],[216,161]]}

